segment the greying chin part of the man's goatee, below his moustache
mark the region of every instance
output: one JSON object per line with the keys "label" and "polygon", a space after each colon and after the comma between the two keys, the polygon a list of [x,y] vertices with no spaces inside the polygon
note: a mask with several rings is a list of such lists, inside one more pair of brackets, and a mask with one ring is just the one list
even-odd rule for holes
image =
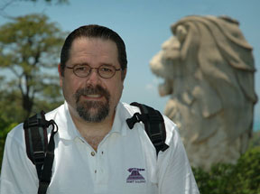
{"label": "greying chin part of the man's goatee, below his moustache", "polygon": [[88,123],[100,123],[109,113],[108,101],[106,104],[96,101],[77,102],[76,107],[79,116]]}

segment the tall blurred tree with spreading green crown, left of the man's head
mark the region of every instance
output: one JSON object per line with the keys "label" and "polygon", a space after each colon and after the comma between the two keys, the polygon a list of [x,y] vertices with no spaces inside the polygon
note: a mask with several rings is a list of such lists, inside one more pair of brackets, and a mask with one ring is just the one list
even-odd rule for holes
{"label": "tall blurred tree with spreading green crown, left of the man's head", "polygon": [[2,94],[20,100],[23,118],[32,113],[35,102],[57,103],[60,86],[58,55],[65,33],[43,14],[14,18],[0,26],[0,69],[12,72],[1,79]]}

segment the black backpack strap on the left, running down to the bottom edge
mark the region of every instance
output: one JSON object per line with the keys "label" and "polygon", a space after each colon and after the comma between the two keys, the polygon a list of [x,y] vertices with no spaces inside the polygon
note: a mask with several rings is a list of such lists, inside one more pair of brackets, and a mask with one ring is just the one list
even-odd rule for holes
{"label": "black backpack strap on the left, running down to the bottom edge", "polygon": [[[48,143],[47,128],[51,125],[51,137]],[[56,126],[56,130],[55,130]],[[58,126],[45,119],[44,112],[32,115],[23,123],[26,152],[35,165],[39,178],[38,194],[45,194],[51,182],[51,169],[54,159],[54,134]]]}

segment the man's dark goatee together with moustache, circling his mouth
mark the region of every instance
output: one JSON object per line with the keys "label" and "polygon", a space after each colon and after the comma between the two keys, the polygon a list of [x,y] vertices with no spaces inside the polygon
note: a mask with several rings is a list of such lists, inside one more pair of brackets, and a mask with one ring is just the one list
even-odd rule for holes
{"label": "man's dark goatee together with moustache, circling his mouth", "polygon": [[[106,102],[96,100],[79,101],[81,96],[87,95],[100,95],[106,98]],[[76,110],[79,116],[88,123],[100,123],[109,114],[110,94],[105,88],[99,85],[95,88],[93,86],[79,88],[74,97],[76,99]]]}

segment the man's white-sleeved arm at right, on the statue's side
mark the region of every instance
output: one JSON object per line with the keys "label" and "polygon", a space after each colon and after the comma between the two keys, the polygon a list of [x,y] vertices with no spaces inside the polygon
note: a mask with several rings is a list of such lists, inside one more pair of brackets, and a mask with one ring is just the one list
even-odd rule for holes
{"label": "man's white-sleeved arm at right, on the statue's side", "polygon": [[158,158],[159,193],[199,194],[180,135],[173,128],[170,148]]}

